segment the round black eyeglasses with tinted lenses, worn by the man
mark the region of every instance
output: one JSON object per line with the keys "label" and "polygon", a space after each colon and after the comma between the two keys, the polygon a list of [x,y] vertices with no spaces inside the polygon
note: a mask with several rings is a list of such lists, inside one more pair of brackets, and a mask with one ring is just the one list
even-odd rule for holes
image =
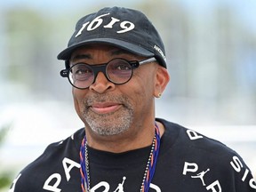
{"label": "round black eyeglasses with tinted lenses, worn by the man", "polygon": [[156,61],[154,57],[147,60],[124,60],[116,58],[108,63],[89,65],[76,63],[71,68],[60,71],[60,76],[68,77],[68,81],[77,89],[86,89],[95,82],[96,76],[102,72],[113,84],[125,84],[132,78],[134,68]]}

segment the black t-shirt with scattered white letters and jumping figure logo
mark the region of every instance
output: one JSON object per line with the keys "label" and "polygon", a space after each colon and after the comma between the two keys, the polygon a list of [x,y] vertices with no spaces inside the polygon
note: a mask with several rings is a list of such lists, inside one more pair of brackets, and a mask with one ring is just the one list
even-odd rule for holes
{"label": "black t-shirt with scattered white letters and jumping figure logo", "polygon": [[[235,151],[179,124],[165,127],[150,192],[255,192],[252,172]],[[20,172],[10,192],[81,192],[84,129],[48,146]],[[139,192],[150,146],[124,153],[88,147],[91,192]]]}

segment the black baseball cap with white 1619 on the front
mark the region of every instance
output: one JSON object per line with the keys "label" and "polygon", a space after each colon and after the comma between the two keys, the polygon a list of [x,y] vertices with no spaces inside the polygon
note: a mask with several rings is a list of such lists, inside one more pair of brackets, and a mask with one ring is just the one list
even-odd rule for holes
{"label": "black baseball cap with white 1619 on the front", "polygon": [[76,48],[87,44],[111,44],[140,56],[155,57],[166,68],[164,44],[156,28],[142,12],[124,7],[106,7],[84,16],[68,48],[58,60],[69,60]]}

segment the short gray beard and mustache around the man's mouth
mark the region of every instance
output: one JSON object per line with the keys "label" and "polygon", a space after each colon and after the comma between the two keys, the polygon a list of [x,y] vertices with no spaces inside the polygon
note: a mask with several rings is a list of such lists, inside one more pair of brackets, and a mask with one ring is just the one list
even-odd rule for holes
{"label": "short gray beard and mustache around the man's mouth", "polygon": [[83,118],[89,125],[93,132],[102,136],[111,136],[126,132],[132,125],[133,121],[133,108],[132,104],[123,95],[122,97],[108,97],[108,96],[93,96],[84,100],[84,106],[88,106],[92,101],[116,101],[123,104],[115,113],[110,114],[96,114],[90,108],[84,108]]}

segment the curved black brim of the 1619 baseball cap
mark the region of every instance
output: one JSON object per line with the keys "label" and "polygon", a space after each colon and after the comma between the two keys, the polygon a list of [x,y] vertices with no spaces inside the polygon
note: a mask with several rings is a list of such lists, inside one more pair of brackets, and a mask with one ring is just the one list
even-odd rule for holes
{"label": "curved black brim of the 1619 baseball cap", "polygon": [[118,48],[124,49],[125,51],[132,52],[141,56],[154,56],[153,52],[149,52],[147,49],[137,44],[131,44],[119,39],[95,38],[69,46],[67,49],[59,53],[59,55],[57,56],[58,60],[69,60],[72,52],[74,52],[76,48],[85,46],[86,44],[111,44]]}

